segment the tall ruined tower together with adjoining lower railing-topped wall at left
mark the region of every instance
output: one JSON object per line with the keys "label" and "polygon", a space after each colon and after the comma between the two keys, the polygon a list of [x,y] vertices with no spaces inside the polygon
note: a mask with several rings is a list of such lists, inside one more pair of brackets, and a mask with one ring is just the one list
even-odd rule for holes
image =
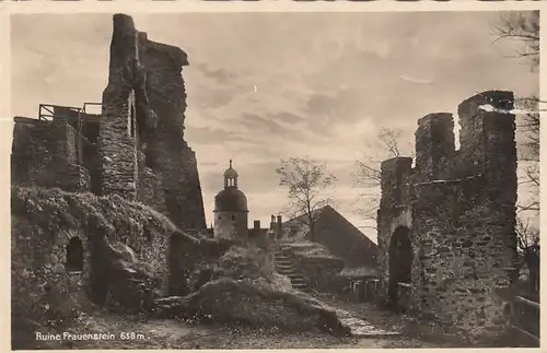
{"label": "tall ruined tower together with adjoining lower railing-topped wall at left", "polygon": [[[179,228],[206,228],[196,155],[184,140],[187,55],[114,16],[102,114],[40,106],[15,118],[12,183],[138,199]],[[46,113],[47,114],[46,114]]]}

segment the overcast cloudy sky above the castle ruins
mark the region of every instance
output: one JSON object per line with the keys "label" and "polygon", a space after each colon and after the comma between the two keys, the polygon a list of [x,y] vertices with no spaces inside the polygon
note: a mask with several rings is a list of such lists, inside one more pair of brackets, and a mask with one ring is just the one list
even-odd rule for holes
{"label": "overcast cloudy sky above the castle ruins", "polygon": [[[186,139],[197,153],[208,224],[229,160],[249,223],[286,205],[275,169],[309,155],[338,177],[335,205],[354,225],[354,161],[382,127],[411,141],[417,119],[454,113],[486,90],[536,94],[538,75],[492,44],[499,12],[186,13],[135,15],[151,40],[183,48],[190,66]],[[12,113],[39,103],[98,102],[112,14],[12,16]],[[363,230],[375,240],[373,232]]]}

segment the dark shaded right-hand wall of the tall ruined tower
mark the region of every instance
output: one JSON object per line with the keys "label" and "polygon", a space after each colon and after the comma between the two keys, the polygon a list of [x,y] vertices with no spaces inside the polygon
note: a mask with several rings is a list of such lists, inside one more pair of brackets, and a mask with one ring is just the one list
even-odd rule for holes
{"label": "dark shaded right-hand wall of the tall ruined tower", "polygon": [[149,167],[161,179],[165,213],[181,228],[206,228],[203,200],[195,152],[184,140],[186,89],[179,48],[139,36],[139,59],[146,74],[149,108],[158,123],[141,129]]}

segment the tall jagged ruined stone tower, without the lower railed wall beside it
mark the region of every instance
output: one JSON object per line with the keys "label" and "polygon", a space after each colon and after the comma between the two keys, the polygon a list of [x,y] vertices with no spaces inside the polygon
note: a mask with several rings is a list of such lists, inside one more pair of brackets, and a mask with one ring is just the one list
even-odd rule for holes
{"label": "tall jagged ruined stone tower, without the lower railed wall beside it", "polygon": [[103,192],[136,197],[181,228],[206,228],[196,155],[184,140],[187,64],[182,49],[149,40],[130,16],[114,16],[100,138]]}

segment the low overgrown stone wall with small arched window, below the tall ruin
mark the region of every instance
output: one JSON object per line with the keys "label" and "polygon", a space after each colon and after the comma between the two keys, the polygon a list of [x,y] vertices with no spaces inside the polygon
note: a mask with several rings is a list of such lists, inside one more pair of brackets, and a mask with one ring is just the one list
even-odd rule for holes
{"label": "low overgrown stone wall with small arched window, below the tall ruin", "polygon": [[[108,287],[127,280],[120,275],[125,268],[130,268],[125,274],[140,271],[156,279],[158,290],[166,292],[168,234],[173,232],[174,225],[164,216],[117,196],[12,188],[14,275],[66,292],[89,293],[100,304]],[[81,245],[81,268],[68,266],[71,239]],[[65,287],[74,279],[78,285]]]}

